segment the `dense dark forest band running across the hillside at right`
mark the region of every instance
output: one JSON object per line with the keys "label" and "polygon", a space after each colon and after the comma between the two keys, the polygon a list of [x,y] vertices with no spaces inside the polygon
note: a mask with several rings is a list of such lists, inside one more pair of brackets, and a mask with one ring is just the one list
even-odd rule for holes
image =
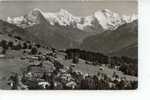
{"label": "dense dark forest band running across the hillside at right", "polygon": [[67,49],[66,54],[66,59],[74,59],[78,57],[80,59],[92,62],[93,65],[107,64],[110,68],[119,66],[117,69],[122,71],[124,74],[137,76],[138,73],[138,60],[126,56],[109,57],[102,53],[95,53],[80,49]]}

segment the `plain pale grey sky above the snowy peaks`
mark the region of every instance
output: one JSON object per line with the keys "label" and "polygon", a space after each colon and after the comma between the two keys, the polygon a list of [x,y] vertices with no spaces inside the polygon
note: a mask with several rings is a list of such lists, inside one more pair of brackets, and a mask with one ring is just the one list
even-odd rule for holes
{"label": "plain pale grey sky above the snowy peaks", "polygon": [[7,17],[22,16],[34,8],[44,12],[58,12],[61,8],[66,9],[75,16],[92,15],[95,11],[109,9],[125,15],[137,14],[136,0],[0,0],[0,19]]}

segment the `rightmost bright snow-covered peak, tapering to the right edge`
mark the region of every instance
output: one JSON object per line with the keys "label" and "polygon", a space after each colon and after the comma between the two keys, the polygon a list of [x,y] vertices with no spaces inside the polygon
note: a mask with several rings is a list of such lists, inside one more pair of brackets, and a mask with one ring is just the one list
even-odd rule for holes
{"label": "rightmost bright snow-covered peak, tapering to the right edge", "polygon": [[131,23],[137,19],[135,14],[132,16],[121,15],[108,9],[96,11],[94,17],[105,30],[114,30],[122,24]]}

